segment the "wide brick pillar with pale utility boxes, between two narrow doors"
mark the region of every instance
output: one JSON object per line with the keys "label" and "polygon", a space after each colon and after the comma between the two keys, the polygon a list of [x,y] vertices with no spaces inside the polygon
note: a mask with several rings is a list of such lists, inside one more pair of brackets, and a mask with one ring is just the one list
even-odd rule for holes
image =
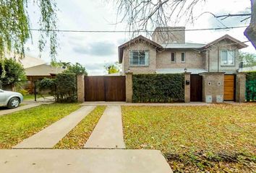
{"label": "wide brick pillar with pale utility boxes, between two narrow doors", "polygon": [[223,72],[205,72],[200,74],[202,76],[203,102],[223,102],[224,74]]}

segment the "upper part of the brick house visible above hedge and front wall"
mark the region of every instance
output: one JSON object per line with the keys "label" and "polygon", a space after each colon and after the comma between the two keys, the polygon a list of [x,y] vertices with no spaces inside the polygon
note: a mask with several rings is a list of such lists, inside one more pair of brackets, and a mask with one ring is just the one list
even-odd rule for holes
{"label": "upper part of the brick house visible above hedge and front wall", "polygon": [[[163,32],[165,30],[167,32]],[[185,68],[192,74],[234,74],[239,69],[239,49],[246,47],[230,35],[208,44],[186,43],[185,27],[157,27],[152,40],[140,35],[120,45],[119,63],[123,75],[127,71],[133,74],[184,73]]]}

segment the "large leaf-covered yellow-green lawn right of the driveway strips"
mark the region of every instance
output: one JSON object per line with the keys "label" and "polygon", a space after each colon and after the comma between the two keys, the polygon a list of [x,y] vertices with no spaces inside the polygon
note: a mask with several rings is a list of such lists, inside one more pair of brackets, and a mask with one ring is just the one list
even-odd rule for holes
{"label": "large leaf-covered yellow-green lawn right of the driveway strips", "polygon": [[159,149],[174,172],[255,172],[256,105],[122,107],[127,148]]}

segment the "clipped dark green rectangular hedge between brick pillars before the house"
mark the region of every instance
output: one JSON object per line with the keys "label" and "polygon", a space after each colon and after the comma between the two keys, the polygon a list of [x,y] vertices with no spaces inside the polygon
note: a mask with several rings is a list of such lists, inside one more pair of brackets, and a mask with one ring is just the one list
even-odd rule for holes
{"label": "clipped dark green rectangular hedge between brick pillars before the house", "polygon": [[184,102],[184,74],[135,74],[132,102]]}

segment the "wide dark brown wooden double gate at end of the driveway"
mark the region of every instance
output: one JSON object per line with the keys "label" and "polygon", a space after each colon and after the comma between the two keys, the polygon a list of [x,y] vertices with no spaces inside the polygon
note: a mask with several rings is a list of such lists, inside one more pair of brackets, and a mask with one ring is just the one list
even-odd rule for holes
{"label": "wide dark brown wooden double gate at end of the driveway", "polygon": [[85,102],[125,102],[125,76],[85,76]]}

